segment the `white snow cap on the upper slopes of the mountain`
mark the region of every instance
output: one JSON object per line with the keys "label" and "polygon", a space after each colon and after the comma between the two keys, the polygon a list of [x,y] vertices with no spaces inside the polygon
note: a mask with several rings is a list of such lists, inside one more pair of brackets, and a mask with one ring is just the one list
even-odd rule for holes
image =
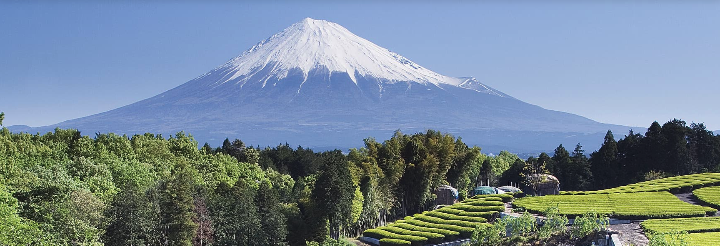
{"label": "white snow cap on the upper slopes of the mountain", "polygon": [[387,83],[414,81],[458,86],[464,81],[430,71],[336,23],[311,18],[258,43],[221,68],[230,70],[226,80],[219,81],[221,83],[249,78],[260,71],[270,71],[268,76],[282,79],[292,69],[300,69],[307,77],[317,68],[347,73],[355,83],[357,75],[386,80]]}

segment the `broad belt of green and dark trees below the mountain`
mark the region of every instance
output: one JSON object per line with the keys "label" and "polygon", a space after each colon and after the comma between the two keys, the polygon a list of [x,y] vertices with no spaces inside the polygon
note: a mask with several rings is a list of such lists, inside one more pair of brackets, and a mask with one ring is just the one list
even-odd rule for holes
{"label": "broad belt of green and dark trees below the mountain", "polygon": [[527,160],[480,150],[433,130],[343,153],[2,128],[0,245],[334,245],[432,209],[443,184],[463,200],[481,182],[523,186],[535,173],[593,190],[720,171],[720,137],[680,120],[619,141],[608,132],[589,155],[580,144]]}

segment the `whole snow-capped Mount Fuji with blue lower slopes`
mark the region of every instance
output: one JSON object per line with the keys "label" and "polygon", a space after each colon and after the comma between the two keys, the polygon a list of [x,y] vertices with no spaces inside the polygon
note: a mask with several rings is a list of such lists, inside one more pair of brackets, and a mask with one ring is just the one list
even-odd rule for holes
{"label": "whole snow-capped Mount Fuji with blue lower slopes", "polygon": [[[157,96],[55,127],[83,133],[185,131],[201,144],[361,147],[362,139],[440,130],[484,150],[592,148],[602,124],[531,105],[472,77],[448,77],[351,33],[306,18],[225,64]],[[586,148],[587,149],[587,148]]]}

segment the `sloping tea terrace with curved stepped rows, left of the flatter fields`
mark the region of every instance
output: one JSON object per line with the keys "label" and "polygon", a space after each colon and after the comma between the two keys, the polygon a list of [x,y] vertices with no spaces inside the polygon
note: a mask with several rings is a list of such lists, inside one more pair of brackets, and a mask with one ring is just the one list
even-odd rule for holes
{"label": "sloping tea terrace with curved stepped rows, left of the flatter fields", "polygon": [[452,206],[407,216],[387,226],[369,229],[363,236],[380,240],[380,245],[425,245],[469,238],[476,227],[487,227],[488,220],[505,210],[503,200],[511,195],[486,195]]}

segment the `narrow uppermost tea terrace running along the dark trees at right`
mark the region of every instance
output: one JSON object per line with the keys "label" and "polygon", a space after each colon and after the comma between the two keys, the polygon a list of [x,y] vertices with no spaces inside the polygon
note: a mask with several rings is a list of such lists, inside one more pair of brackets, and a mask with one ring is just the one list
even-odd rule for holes
{"label": "narrow uppermost tea terrace running along the dark trees at right", "polygon": [[700,173],[645,181],[611,189],[597,191],[563,191],[561,195],[587,195],[611,193],[635,193],[667,191],[670,193],[690,192],[706,186],[720,185],[720,173]]}

